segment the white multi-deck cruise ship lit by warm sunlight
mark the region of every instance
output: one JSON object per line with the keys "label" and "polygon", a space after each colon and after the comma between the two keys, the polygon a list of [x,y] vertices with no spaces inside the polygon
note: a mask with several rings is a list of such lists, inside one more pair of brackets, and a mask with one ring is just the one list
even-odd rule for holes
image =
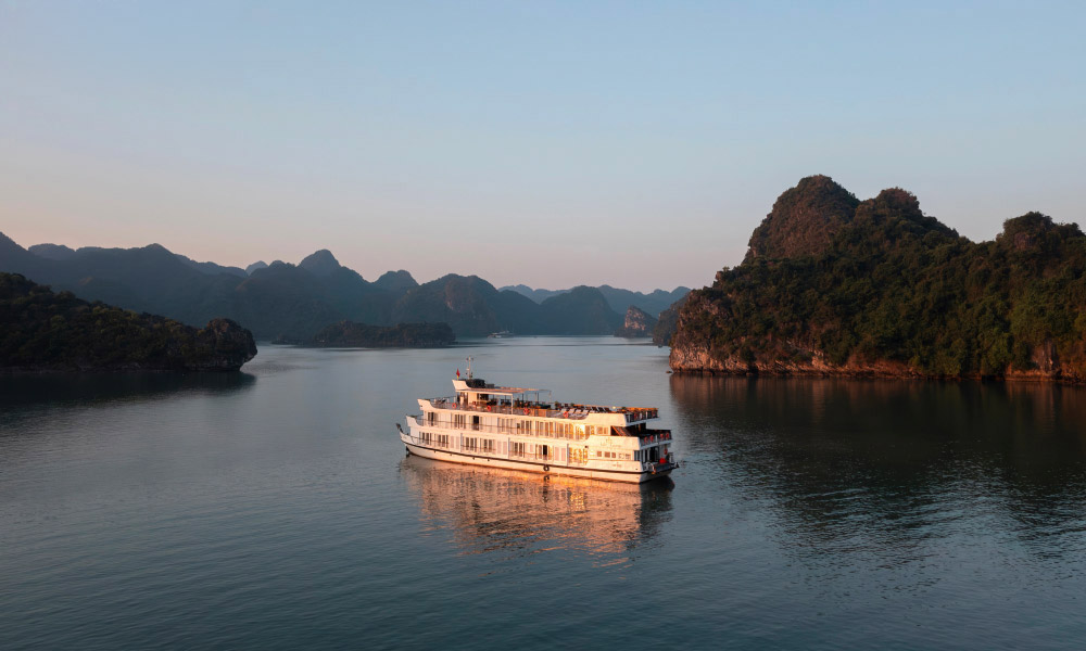
{"label": "white multi-deck cruise ship lit by warm sunlight", "polygon": [[[616,482],[648,482],[677,468],[671,432],[654,407],[555,403],[544,388],[496,386],[459,370],[456,395],[419,398],[399,423],[407,454],[429,459]],[[541,400],[543,394],[547,399]]]}

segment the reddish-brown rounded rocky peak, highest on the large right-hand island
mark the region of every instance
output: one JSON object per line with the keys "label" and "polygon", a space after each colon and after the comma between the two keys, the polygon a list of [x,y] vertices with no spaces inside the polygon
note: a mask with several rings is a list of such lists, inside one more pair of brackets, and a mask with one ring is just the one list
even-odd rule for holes
{"label": "reddish-brown rounded rocky peak, highest on the large right-hand island", "polygon": [[750,235],[744,261],[817,255],[853,220],[859,201],[828,176],[810,176],[786,190]]}

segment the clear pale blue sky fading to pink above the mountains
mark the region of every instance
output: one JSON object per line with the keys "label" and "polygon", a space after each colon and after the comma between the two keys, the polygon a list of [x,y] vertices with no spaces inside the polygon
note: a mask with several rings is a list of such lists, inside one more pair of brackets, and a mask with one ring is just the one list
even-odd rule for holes
{"label": "clear pale blue sky fading to pink above the mountains", "polygon": [[0,0],[0,231],[692,288],[784,190],[1082,222],[1083,2]]}

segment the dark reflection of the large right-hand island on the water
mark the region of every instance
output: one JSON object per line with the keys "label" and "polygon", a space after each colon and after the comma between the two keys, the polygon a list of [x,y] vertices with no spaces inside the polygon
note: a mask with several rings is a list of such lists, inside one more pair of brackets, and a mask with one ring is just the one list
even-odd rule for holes
{"label": "dark reflection of the large right-hand island on the water", "polygon": [[[1086,391],[673,375],[689,462],[773,513],[792,553],[872,567],[1086,550]],[[975,560],[975,559],[974,559]],[[910,578],[910,576],[912,578]],[[895,576],[915,587],[922,574]]]}

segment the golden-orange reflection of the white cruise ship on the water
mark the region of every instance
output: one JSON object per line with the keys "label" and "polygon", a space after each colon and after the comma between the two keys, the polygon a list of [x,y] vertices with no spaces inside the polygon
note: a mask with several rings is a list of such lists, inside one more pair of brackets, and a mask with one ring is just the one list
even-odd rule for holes
{"label": "golden-orange reflection of the white cruise ship on the water", "polygon": [[451,529],[462,553],[568,550],[622,562],[671,519],[670,480],[620,484],[456,465],[401,462],[425,534]]}

